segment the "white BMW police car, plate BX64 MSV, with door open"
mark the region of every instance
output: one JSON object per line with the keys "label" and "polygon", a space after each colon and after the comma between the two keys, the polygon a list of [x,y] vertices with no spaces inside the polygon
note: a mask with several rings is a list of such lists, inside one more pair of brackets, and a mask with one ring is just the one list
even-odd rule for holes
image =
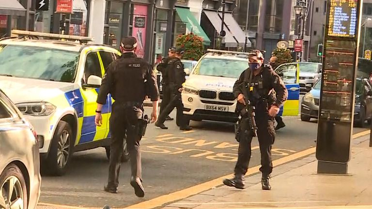
{"label": "white BMW police car, plate BX64 MSV, with door open", "polygon": [[[248,68],[248,53],[208,49],[185,82],[182,92],[184,114],[191,120],[236,122],[233,85]],[[298,72],[283,71],[289,92],[280,116],[297,116],[299,105]]]}

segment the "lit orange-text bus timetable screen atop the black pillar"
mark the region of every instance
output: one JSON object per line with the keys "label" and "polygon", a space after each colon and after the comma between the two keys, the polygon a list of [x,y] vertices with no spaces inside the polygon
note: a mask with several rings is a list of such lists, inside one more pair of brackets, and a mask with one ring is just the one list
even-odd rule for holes
{"label": "lit orange-text bus timetable screen atop the black pillar", "polygon": [[330,0],[328,36],[356,36],[357,0]]}

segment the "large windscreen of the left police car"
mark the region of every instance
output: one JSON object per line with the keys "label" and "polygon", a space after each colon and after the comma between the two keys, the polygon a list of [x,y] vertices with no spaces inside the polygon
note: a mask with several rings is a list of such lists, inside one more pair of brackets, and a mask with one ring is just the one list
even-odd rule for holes
{"label": "large windscreen of the left police car", "polygon": [[0,75],[73,82],[79,53],[52,48],[0,45]]}

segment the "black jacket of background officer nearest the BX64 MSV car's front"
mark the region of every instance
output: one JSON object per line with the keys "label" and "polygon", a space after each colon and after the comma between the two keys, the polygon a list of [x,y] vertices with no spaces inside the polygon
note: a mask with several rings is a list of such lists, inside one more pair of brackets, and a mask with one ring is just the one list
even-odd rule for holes
{"label": "black jacket of background officer nearest the BX64 MSV car's front", "polygon": [[185,76],[184,64],[182,64],[179,58],[174,58],[168,62],[167,84],[169,84],[171,88],[177,90],[182,88],[182,84],[186,81]]}

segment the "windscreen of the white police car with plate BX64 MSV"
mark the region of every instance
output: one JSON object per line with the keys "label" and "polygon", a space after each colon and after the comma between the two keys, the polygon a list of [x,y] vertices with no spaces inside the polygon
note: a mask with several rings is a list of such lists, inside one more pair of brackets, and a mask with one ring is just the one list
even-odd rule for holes
{"label": "windscreen of the white police car with plate BX64 MSV", "polygon": [[204,58],[197,64],[192,74],[238,78],[248,68],[248,60]]}

